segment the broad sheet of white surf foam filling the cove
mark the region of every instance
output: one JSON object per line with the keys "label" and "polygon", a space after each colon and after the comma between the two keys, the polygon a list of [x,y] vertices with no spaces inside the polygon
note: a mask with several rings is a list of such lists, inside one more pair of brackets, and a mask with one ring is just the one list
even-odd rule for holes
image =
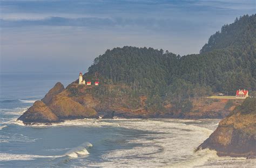
{"label": "broad sheet of white surf foam filling the cove", "polygon": [[[116,124],[127,129],[149,131],[127,143],[141,144],[132,149],[112,150],[102,156],[104,162],[88,166],[138,166],[192,167],[203,165],[216,155],[212,151],[194,153],[212,130],[194,124],[198,121],[179,120],[116,120]],[[150,160],[150,162],[149,162]],[[182,164],[178,164],[178,162]]]}

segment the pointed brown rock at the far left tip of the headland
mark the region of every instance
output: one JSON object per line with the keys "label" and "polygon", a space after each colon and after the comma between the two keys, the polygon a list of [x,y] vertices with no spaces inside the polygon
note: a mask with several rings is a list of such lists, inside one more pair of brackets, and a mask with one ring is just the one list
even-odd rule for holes
{"label": "pointed brown rock at the far left tip of the headland", "polygon": [[18,120],[24,123],[32,122],[57,122],[59,118],[43,101],[36,101]]}

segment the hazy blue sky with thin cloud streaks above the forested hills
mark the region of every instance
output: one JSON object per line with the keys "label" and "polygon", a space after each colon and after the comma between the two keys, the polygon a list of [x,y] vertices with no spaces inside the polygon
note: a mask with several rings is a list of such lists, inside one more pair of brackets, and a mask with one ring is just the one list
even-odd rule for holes
{"label": "hazy blue sky with thin cloud streaks above the forested hills", "polygon": [[0,0],[0,72],[86,72],[107,49],[199,53],[256,0]]}

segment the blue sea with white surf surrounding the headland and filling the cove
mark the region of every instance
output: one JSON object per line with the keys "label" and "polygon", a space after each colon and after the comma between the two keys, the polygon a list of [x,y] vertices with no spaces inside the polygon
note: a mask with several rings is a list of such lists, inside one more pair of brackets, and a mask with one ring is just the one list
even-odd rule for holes
{"label": "blue sea with white surf surrounding the headland and filling the cove", "polygon": [[254,167],[256,161],[195,152],[219,120],[68,120],[25,126],[16,119],[72,73],[0,74],[0,167]]}

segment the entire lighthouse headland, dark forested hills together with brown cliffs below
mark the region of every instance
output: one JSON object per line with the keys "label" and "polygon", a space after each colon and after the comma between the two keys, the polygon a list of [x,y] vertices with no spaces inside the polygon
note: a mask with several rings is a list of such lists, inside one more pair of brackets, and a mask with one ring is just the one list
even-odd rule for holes
{"label": "entire lighthouse headland, dark forested hills together with brown cliffs below", "polygon": [[[98,86],[49,90],[18,120],[60,122],[76,118],[224,118],[242,103],[207,99],[237,89],[256,89],[256,15],[242,16],[213,34],[199,54],[180,56],[154,48],[124,46],[99,55],[85,81]],[[255,96],[255,95],[254,95]]]}

